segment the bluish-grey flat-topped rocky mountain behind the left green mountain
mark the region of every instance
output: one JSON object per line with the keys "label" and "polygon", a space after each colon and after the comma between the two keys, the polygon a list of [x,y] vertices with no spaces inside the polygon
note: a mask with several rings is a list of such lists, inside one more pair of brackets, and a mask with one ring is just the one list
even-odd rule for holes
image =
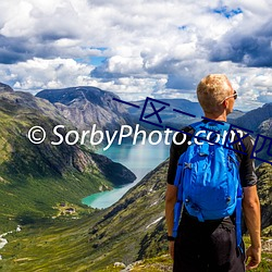
{"label": "bluish-grey flat-topped rocky mountain behind the left green mountain", "polygon": [[45,89],[36,97],[53,103],[79,129],[90,129],[96,124],[97,129],[113,132],[121,125],[134,124],[125,107],[113,100],[119,98],[116,95],[96,87]]}

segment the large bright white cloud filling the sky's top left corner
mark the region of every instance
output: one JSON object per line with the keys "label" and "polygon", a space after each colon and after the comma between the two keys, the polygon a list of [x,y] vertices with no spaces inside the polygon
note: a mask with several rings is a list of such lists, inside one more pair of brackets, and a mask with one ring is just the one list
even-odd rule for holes
{"label": "large bright white cloud filling the sky's top left corner", "polygon": [[[76,35],[77,13],[70,1],[11,0],[5,4],[9,20],[0,34],[8,37]],[[0,4],[0,8],[2,3]]]}

